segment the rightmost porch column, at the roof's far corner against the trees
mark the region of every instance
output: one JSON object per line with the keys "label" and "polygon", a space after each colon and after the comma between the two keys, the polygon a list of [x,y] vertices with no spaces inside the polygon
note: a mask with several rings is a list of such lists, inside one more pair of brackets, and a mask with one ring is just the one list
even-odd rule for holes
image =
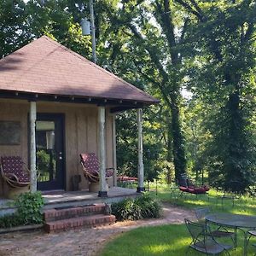
{"label": "rightmost porch column, at the roof's far corner against the trees", "polygon": [[137,178],[138,186],[137,193],[141,193],[145,190],[144,188],[144,166],[143,166],[143,109],[137,109],[137,149],[138,149],[138,165],[137,165]]}

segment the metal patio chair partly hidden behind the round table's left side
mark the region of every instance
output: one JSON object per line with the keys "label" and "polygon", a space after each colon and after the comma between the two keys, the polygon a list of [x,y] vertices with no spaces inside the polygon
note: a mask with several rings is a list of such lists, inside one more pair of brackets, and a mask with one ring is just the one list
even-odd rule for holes
{"label": "metal patio chair partly hidden behind the round table's left side", "polygon": [[[194,211],[195,217],[200,223],[202,223],[206,221],[205,217],[212,213],[212,207],[197,207]],[[236,230],[235,232],[230,232],[224,227],[218,227],[216,230],[212,230],[212,236],[216,238],[230,237],[234,247],[236,247]]]}

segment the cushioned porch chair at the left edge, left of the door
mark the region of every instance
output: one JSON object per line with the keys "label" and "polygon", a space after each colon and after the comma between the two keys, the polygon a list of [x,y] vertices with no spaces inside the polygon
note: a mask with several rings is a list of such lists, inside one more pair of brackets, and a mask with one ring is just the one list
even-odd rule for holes
{"label": "cushioned porch chair at the left edge, left of the door", "polygon": [[12,188],[22,188],[30,184],[30,171],[22,162],[20,156],[1,157],[1,175]]}

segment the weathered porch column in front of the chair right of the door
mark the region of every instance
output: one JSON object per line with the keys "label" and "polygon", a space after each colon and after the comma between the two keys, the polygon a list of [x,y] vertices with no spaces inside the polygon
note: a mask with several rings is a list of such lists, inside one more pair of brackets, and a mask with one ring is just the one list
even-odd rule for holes
{"label": "weathered porch column in front of the chair right of the door", "polygon": [[108,197],[106,182],[106,146],[105,146],[105,107],[98,107],[99,160],[100,160],[100,197]]}

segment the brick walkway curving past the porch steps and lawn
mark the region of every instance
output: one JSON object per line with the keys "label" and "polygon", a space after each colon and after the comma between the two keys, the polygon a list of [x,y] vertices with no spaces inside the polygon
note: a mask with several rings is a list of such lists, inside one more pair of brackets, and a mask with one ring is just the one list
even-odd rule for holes
{"label": "brick walkway curving past the porch steps and lawn", "polygon": [[193,212],[165,204],[163,217],[159,219],[119,222],[95,229],[69,230],[56,234],[45,234],[43,231],[9,233],[0,235],[0,256],[93,256],[109,239],[126,230],[138,226],[183,223],[184,218],[191,216],[194,216]]}

